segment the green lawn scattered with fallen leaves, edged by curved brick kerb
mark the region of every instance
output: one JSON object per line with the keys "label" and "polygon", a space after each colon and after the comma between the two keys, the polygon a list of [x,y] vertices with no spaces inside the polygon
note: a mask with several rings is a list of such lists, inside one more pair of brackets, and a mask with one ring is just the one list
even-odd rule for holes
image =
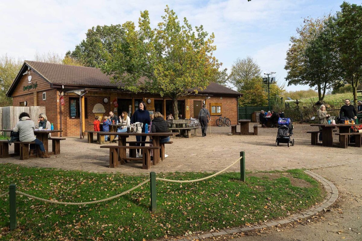
{"label": "green lawn scattered with fallen leaves, edged by curved brick kerb", "polygon": [[[273,172],[274,174],[276,172]],[[260,175],[260,173],[258,173]],[[157,182],[157,211],[151,212],[150,184],[106,203],[63,206],[17,195],[18,228],[9,232],[9,201],[0,198],[0,240],[150,240],[197,231],[258,224],[285,217],[320,202],[324,191],[302,170],[288,171],[310,184],[291,185],[288,177],[270,179],[223,173],[209,180],[173,184]],[[157,175],[191,180],[209,173]],[[121,193],[148,176],[88,173],[0,164],[0,190],[17,190],[58,201],[87,202]],[[299,179],[298,179],[299,180]]]}

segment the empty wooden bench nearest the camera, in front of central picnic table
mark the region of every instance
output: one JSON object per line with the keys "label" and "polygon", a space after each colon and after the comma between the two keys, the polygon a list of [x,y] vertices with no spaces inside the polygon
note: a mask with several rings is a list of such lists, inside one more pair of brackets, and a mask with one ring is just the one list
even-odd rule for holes
{"label": "empty wooden bench nearest the camera, in front of central picnic table", "polygon": [[[119,149],[141,149],[144,150],[142,156],[142,169],[151,168],[151,150],[160,149],[156,146],[101,146],[101,148],[109,148],[109,167],[115,168],[118,166],[118,150]],[[155,163],[153,162],[153,165]]]}

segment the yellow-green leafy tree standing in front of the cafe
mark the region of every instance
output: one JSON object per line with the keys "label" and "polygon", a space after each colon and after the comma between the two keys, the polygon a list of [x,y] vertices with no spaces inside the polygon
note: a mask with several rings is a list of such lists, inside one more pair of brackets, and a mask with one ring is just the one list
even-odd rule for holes
{"label": "yellow-green leafy tree standing in front of the cafe", "polygon": [[203,26],[194,31],[186,18],[181,25],[168,6],[162,19],[156,29],[151,29],[146,10],[141,13],[138,30],[133,22],[123,24],[125,38],[114,41],[113,52],[102,48],[105,63],[101,69],[127,90],[171,98],[174,116],[178,117],[177,99],[189,95],[190,90],[197,94],[205,89],[221,63],[213,56],[213,33],[208,35]]}

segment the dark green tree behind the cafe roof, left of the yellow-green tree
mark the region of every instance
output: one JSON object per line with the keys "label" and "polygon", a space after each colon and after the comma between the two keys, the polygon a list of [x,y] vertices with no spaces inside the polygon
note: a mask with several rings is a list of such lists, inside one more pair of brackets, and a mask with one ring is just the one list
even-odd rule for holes
{"label": "dark green tree behind the cafe roof, left of the yellow-green tree", "polygon": [[[76,63],[82,63],[88,67],[99,67],[105,64],[102,52],[112,53],[114,43],[122,46],[122,38],[125,37],[125,30],[122,25],[96,26],[89,29],[87,38],[75,47],[74,51],[68,51],[66,57],[71,57]],[[119,47],[118,46],[118,47]]]}

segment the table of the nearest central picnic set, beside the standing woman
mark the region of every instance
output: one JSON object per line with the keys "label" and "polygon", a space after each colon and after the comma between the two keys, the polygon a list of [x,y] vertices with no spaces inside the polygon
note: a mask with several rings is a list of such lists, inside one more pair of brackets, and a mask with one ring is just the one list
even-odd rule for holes
{"label": "table of the nearest central picnic set, beside the standing woman", "polygon": [[[127,133],[127,132],[108,132],[110,135],[118,135],[118,146],[126,146],[127,138],[130,136],[149,136],[152,138],[152,145],[155,147],[160,147],[160,137],[161,136],[174,136],[177,133],[174,132],[156,132],[156,133]],[[134,158],[127,158],[126,149],[119,150],[118,152],[118,161],[124,163],[125,160],[132,160]],[[142,158],[140,158],[142,160]],[[153,150],[153,162],[155,164],[160,163],[160,149]]]}

